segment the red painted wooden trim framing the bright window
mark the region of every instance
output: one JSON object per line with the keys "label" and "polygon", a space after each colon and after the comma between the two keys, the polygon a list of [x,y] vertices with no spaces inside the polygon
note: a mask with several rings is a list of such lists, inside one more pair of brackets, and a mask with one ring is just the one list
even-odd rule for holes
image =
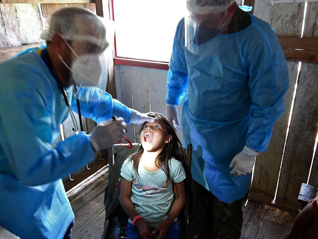
{"label": "red painted wooden trim framing the bright window", "polygon": [[[109,0],[108,6],[109,6],[110,19],[115,21],[114,0]],[[149,61],[149,60],[142,60],[142,59],[118,57],[117,49],[116,49],[116,33],[114,38],[113,57],[114,57],[114,65],[137,66],[137,67],[145,67],[145,68],[161,69],[161,70],[169,69],[169,62],[159,62],[159,61]]]}

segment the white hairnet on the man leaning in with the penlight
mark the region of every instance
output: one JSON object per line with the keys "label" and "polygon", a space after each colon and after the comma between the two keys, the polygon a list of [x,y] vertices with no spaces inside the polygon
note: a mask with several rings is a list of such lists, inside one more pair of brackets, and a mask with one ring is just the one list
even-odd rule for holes
{"label": "white hairnet on the man leaning in with the penlight", "polygon": [[106,49],[109,45],[109,32],[112,30],[109,27],[106,29],[104,18],[85,8],[70,7],[52,14],[49,26],[41,38],[51,41],[53,35],[59,33],[65,40],[87,41]]}

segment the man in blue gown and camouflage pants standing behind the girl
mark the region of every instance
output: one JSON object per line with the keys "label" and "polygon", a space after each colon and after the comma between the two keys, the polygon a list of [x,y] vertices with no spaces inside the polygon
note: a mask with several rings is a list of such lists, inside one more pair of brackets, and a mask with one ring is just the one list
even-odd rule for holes
{"label": "man in blue gown and camouflage pants standing behind the girl", "polygon": [[179,128],[206,211],[196,238],[240,238],[242,205],[258,152],[284,111],[285,56],[272,27],[234,0],[187,0],[167,77],[167,116]]}

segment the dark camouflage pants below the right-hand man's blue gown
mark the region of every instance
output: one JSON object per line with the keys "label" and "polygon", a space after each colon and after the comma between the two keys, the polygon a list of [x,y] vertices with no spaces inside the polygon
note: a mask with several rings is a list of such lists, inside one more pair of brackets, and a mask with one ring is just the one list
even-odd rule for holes
{"label": "dark camouflage pants below the right-hand man's blue gown", "polygon": [[239,239],[243,223],[242,207],[247,194],[242,199],[225,203],[198,183],[196,183],[196,187],[205,210],[206,224],[204,231],[195,238]]}

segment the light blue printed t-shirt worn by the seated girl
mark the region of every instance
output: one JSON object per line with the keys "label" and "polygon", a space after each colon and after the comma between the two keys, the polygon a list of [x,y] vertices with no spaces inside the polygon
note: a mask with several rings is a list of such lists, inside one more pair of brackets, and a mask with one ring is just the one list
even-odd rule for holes
{"label": "light blue printed t-shirt worn by the seated girl", "polygon": [[[125,160],[121,167],[121,177],[133,182],[130,199],[137,214],[141,215],[152,228],[158,226],[169,214],[174,200],[171,181],[180,183],[185,179],[185,172],[180,161],[170,159],[169,170],[171,179],[167,182],[167,176],[162,169],[149,172],[139,164],[139,175],[136,175],[130,159]],[[130,219],[128,222],[132,223]]]}

